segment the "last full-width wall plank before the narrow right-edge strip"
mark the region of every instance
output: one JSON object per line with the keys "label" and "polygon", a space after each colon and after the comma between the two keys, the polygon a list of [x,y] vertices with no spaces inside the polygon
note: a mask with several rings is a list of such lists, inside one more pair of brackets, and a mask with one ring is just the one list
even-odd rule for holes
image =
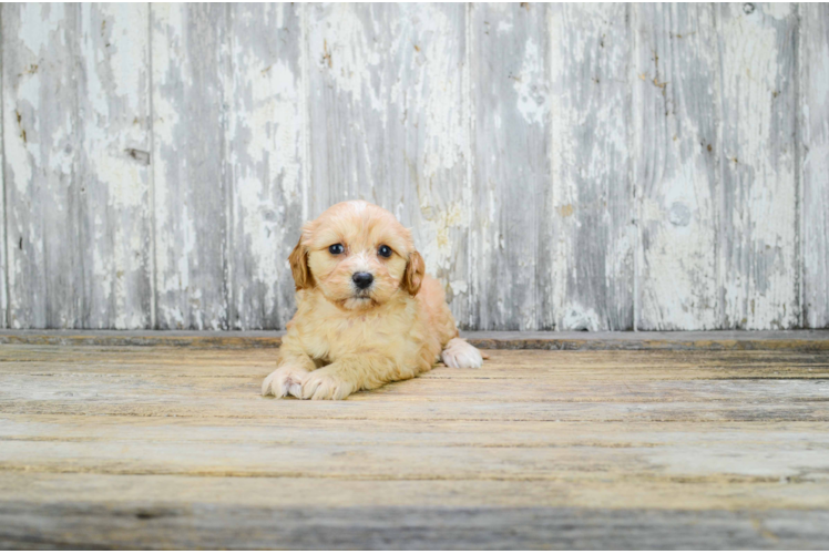
{"label": "last full-width wall plank before the narrow right-edge strip", "polygon": [[799,325],[797,13],[790,3],[718,6],[723,64],[723,326]]}

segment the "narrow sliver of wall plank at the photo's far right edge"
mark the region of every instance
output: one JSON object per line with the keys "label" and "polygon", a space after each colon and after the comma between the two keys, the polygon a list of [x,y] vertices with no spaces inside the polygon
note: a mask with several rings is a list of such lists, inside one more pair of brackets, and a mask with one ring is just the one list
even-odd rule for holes
{"label": "narrow sliver of wall plank at the photo's far right edge", "polygon": [[800,2],[804,326],[829,327],[829,6]]}

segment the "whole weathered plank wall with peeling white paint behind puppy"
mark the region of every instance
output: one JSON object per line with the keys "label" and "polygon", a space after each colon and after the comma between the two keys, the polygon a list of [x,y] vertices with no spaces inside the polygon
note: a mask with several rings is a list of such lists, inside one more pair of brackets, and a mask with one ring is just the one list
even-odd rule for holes
{"label": "whole weathered plank wall with peeling white paint behind puppy", "polygon": [[829,327],[820,3],[3,3],[0,326],[279,329],[303,220],[463,328]]}

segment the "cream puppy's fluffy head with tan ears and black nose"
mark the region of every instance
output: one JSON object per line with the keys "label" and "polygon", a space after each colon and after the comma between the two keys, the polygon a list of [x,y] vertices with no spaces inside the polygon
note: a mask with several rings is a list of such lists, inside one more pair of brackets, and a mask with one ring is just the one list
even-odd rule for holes
{"label": "cream puppy's fluffy head with tan ears and black nose", "polygon": [[316,288],[351,310],[381,305],[398,290],[417,295],[426,270],[409,229],[364,201],[336,204],[303,226],[288,260],[297,290]]}

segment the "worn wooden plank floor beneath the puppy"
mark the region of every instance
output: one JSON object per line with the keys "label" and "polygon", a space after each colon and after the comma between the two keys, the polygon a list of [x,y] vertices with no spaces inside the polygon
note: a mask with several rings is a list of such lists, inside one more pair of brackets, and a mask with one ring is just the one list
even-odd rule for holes
{"label": "worn wooden plank floor beneath the puppy", "polygon": [[829,351],[490,350],[344,402],[273,348],[0,346],[0,547],[818,548]]}

